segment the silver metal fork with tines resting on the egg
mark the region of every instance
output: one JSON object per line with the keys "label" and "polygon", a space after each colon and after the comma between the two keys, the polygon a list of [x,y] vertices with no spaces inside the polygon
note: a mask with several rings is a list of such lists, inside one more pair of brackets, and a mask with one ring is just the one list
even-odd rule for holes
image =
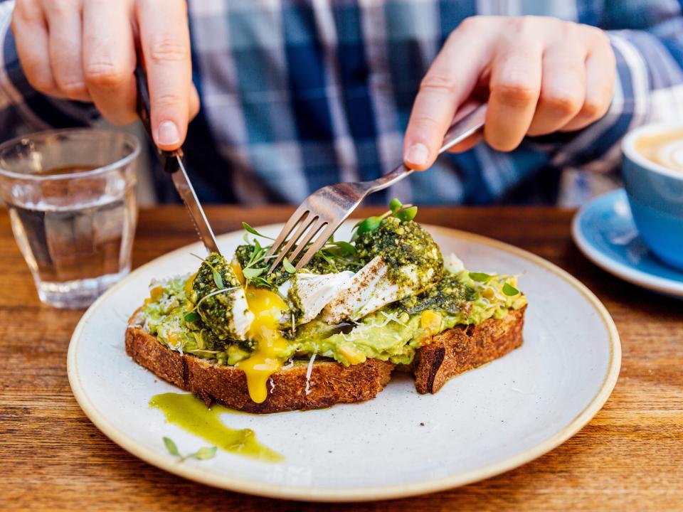
{"label": "silver metal fork with tines resting on the egg", "polygon": [[[439,154],[477,132],[484,125],[486,108],[486,104],[480,105],[462,119],[451,124],[443,138]],[[373,181],[351,181],[319,188],[301,203],[301,206],[285,223],[280,235],[277,235],[275,241],[272,242],[270,250],[265,255],[266,259],[275,257],[268,269],[268,274],[280,265],[285,256],[290,262],[295,262],[302,251],[307,249],[295,268],[300,270],[305,267],[366,196],[381,191],[412,173],[413,169],[408,169],[401,164],[390,173]],[[322,233],[309,245],[320,230]],[[283,244],[285,247],[280,250]]]}

